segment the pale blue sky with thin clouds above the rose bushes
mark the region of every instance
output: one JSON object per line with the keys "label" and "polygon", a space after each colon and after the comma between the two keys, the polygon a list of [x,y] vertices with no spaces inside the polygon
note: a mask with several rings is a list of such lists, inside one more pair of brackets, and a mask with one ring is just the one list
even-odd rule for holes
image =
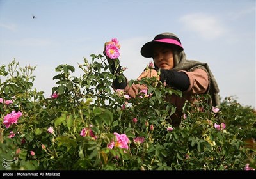
{"label": "pale blue sky with thin clouds above the rose bushes", "polygon": [[[179,36],[188,59],[208,63],[221,98],[256,106],[255,1],[4,1],[1,0],[1,65],[15,58],[37,66],[34,87],[51,95],[60,64],[102,54],[118,38],[121,65],[136,79],[152,60],[143,44],[163,32]],[[33,19],[33,16],[35,18]]]}

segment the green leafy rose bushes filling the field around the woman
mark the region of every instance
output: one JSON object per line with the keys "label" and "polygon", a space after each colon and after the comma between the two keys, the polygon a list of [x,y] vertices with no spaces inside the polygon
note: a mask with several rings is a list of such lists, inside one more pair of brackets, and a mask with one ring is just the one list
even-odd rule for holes
{"label": "green leafy rose bushes filling the field around the woman", "polygon": [[[180,125],[172,126],[170,115],[175,106],[164,98],[172,93],[181,96],[180,91],[165,88],[156,79],[130,81],[130,85],[147,85],[148,96],[140,93],[127,100],[111,88],[118,76],[109,72],[106,59],[91,57],[92,63],[84,58],[79,65],[84,72],[81,77],[70,75],[73,66],[57,66],[52,88],[57,98],[45,98],[42,91],[33,89],[35,67],[18,69],[15,60],[8,69],[1,66],[5,80],[0,81],[0,98],[13,104],[0,103],[0,155],[6,160],[18,157],[9,169],[242,170],[246,163],[256,167],[256,112],[251,107],[228,97],[214,113],[202,96],[196,97],[196,104],[184,105]],[[12,111],[20,111],[22,116],[6,128],[4,116]],[[214,123],[225,123],[226,128],[216,130]],[[54,128],[52,134],[47,132],[49,127]],[[81,136],[83,128],[90,128],[95,136]],[[9,138],[11,131],[15,136]],[[108,148],[114,132],[129,137],[128,150]],[[145,141],[136,143],[135,137]],[[6,170],[3,165],[1,169]]]}

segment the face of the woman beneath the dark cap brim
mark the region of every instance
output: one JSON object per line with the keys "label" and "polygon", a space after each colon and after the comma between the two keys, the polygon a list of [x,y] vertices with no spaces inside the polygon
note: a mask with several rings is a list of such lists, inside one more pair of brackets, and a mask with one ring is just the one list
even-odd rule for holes
{"label": "face of the woman beneath the dark cap brim", "polygon": [[153,59],[158,68],[170,70],[174,67],[173,52],[170,47],[161,45],[154,47]]}

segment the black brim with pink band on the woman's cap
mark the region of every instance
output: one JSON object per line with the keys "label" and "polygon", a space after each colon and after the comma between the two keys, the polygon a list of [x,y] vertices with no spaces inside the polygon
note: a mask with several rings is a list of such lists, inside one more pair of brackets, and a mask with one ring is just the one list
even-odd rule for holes
{"label": "black brim with pink band on the woman's cap", "polygon": [[153,48],[156,47],[156,45],[163,44],[163,43],[173,45],[173,47],[177,47],[177,49],[183,50],[182,45],[179,42],[177,42],[177,40],[161,39],[161,40],[154,40],[154,41],[145,43],[145,45],[141,47],[140,53],[145,58],[151,58],[153,56]]}

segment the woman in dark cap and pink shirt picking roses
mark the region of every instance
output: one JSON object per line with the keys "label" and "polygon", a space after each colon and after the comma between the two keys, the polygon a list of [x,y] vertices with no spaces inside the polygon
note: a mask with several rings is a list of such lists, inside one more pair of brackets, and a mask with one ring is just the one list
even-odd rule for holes
{"label": "woman in dark cap and pink shirt picking roses", "polygon": [[[220,105],[218,84],[209,66],[207,63],[186,59],[182,44],[175,34],[157,35],[152,41],[143,45],[141,55],[145,58],[153,58],[155,68],[144,70],[138,77],[138,81],[145,77],[157,77],[166,86],[182,91],[182,97],[171,95],[166,99],[177,107],[172,116],[173,119],[182,116],[184,102],[186,100],[193,102],[193,95],[196,94],[209,94],[211,95],[209,105],[214,107]],[[118,72],[121,69],[121,66],[117,69],[114,67],[111,65],[112,72]],[[160,75],[157,75],[159,70]],[[147,86],[140,84],[129,86],[126,79],[120,83],[118,80],[114,81],[113,88],[124,89],[130,97],[136,97],[138,91],[147,89]]]}

